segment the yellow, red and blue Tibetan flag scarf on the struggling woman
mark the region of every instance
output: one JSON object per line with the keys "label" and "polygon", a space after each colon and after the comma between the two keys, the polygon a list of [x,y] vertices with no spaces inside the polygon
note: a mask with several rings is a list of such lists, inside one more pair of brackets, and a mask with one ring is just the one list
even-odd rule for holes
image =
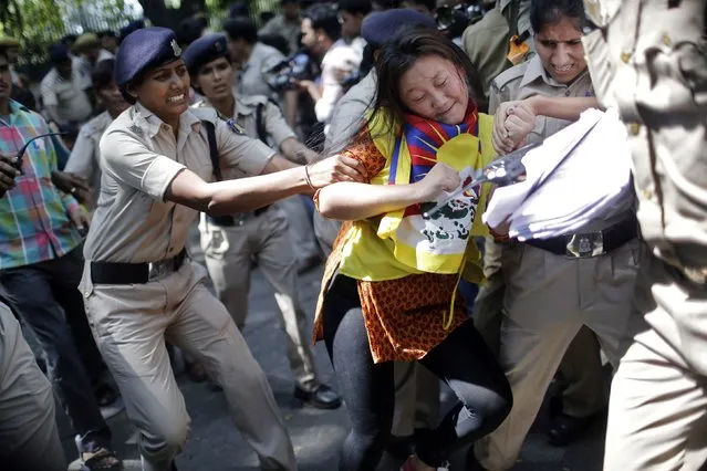
{"label": "yellow, red and blue Tibetan flag scarf on the struggling woman", "polygon": [[[459,125],[407,115],[405,124],[393,136],[381,132],[382,126],[384,121],[375,116],[368,122],[376,146],[391,150],[386,168],[372,184],[414,184],[425,178],[437,163],[457,169],[466,182],[492,154],[482,149],[490,147],[492,119],[479,115],[474,103]],[[476,187],[429,217],[424,212],[427,205],[432,207],[434,202],[388,212],[383,216],[377,234],[394,242],[395,259],[407,266],[429,273],[459,273],[469,240],[485,233],[481,218],[476,214],[479,206],[485,208],[486,196],[486,190]]]}

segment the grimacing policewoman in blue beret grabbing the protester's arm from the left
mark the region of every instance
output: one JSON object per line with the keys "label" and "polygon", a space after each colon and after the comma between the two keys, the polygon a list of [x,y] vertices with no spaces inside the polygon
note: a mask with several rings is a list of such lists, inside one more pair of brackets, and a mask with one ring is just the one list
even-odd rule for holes
{"label": "grimacing policewoman in blue beret grabbing the protester's arm from the left", "polygon": [[[133,106],[101,139],[103,181],[80,290],[139,431],[144,470],[176,469],[174,458],[189,431],[165,341],[196,357],[222,386],[231,418],[261,468],[294,470],[266,375],[184,247],[198,211],[253,210],[351,177],[339,170],[337,158],[293,168],[237,127],[199,119],[188,111],[189,75],[180,53],[174,32],[163,28],[135,31],[121,44],[115,82]],[[214,147],[217,166],[209,158]],[[209,184],[221,167],[257,177]]]}

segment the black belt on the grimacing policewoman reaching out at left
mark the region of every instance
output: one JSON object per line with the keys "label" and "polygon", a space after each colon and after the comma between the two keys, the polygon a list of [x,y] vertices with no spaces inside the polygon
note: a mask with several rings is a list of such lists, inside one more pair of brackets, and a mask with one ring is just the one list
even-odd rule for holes
{"label": "black belt on the grimacing policewoman reaching out at left", "polygon": [[91,262],[91,281],[94,284],[144,284],[181,266],[187,257],[185,249],[171,259],[154,263]]}

